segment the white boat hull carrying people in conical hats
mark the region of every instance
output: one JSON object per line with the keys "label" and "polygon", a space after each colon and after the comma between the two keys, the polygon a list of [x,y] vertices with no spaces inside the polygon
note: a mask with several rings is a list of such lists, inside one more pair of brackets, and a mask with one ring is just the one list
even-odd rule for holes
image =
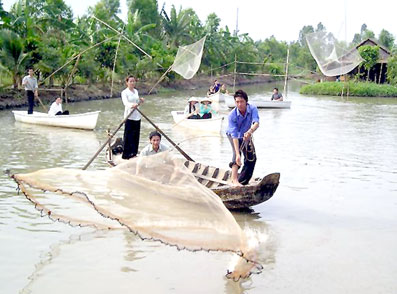
{"label": "white boat hull carrying people in conical hats", "polygon": [[207,119],[187,119],[183,111],[171,111],[171,114],[176,125],[180,127],[210,133],[220,133],[224,119],[223,116],[213,116]]}

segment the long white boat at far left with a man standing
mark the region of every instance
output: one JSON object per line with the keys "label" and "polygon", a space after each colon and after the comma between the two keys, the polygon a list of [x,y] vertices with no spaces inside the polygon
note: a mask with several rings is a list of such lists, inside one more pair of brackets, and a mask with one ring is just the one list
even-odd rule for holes
{"label": "long white boat at far left with a man standing", "polygon": [[13,110],[15,120],[27,124],[45,125],[62,128],[93,130],[96,126],[100,111],[70,115],[48,115],[34,111],[28,114],[26,110]]}

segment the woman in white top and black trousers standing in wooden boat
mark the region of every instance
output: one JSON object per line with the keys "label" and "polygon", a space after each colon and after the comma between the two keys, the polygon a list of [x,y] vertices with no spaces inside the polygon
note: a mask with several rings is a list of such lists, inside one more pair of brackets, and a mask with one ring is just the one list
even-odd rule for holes
{"label": "woman in white top and black trousers standing in wooden boat", "polygon": [[[131,110],[138,108],[139,104],[144,102],[139,98],[138,90],[135,89],[136,79],[134,76],[127,76],[125,79],[127,88],[121,92],[121,100],[124,104],[124,118],[128,116]],[[123,159],[130,159],[138,154],[139,135],[141,131],[141,114],[134,111],[128,116],[124,126],[124,146]]]}

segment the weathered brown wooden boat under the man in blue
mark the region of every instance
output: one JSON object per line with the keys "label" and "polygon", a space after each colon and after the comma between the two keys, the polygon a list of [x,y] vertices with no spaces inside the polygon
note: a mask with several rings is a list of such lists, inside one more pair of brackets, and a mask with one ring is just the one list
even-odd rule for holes
{"label": "weathered brown wooden boat under the man in blue", "polygon": [[[121,158],[121,153],[117,153],[122,151],[120,148],[122,148],[122,140],[118,138],[107,149],[106,160],[110,166],[116,166],[125,161]],[[113,154],[111,150],[117,150],[116,154]],[[248,185],[237,187],[231,185],[230,170],[223,170],[189,160],[186,160],[184,164],[193,173],[197,181],[215,192],[230,210],[247,209],[269,200],[276,191],[280,180],[280,173],[272,173],[263,179],[256,178],[251,180]]]}

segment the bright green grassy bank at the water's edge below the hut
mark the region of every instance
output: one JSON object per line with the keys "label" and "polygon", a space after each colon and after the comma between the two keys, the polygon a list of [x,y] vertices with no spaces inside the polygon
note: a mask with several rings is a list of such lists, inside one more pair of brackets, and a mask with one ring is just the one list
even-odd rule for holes
{"label": "bright green grassy bank at the water's edge below the hut", "polygon": [[301,94],[360,97],[397,97],[397,87],[366,82],[323,82],[305,85]]}

